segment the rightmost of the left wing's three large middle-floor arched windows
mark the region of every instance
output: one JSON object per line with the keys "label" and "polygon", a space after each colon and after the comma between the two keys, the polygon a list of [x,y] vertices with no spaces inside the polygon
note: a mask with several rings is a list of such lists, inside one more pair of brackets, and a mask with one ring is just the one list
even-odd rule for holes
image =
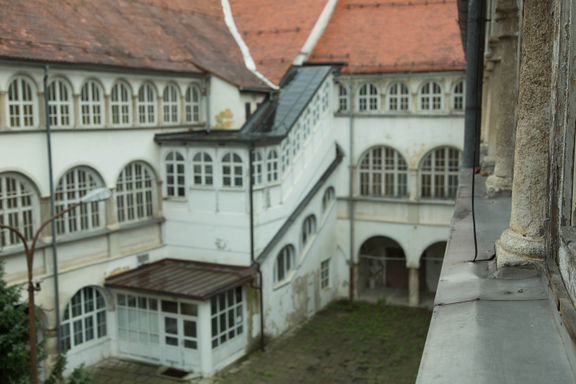
{"label": "rightmost of the left wing's three large middle-floor arched windows", "polygon": [[146,163],[135,161],[122,170],[116,182],[118,223],[154,216],[155,181],[154,172]]}

